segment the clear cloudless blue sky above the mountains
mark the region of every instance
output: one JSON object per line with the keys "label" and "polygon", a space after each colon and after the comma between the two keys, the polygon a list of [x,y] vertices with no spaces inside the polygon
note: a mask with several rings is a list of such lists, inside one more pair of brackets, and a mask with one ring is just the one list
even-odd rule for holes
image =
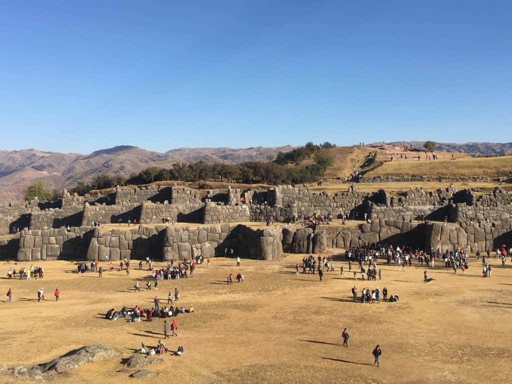
{"label": "clear cloudless blue sky above the mountains", "polygon": [[512,141],[510,1],[0,0],[0,149]]}

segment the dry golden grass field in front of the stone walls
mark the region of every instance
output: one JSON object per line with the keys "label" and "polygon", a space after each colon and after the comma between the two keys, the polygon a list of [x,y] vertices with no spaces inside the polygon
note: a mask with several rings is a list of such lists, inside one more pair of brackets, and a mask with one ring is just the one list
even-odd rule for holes
{"label": "dry golden grass field in front of the stone walls", "polygon": [[[338,250],[336,250],[338,251]],[[329,252],[326,252],[328,254]],[[123,383],[131,371],[120,371],[141,342],[154,346],[162,338],[163,320],[148,323],[108,321],[109,308],[151,307],[155,295],[163,304],[178,287],[179,305],[196,312],[177,317],[178,337],[167,340],[182,356],[164,355],[165,362],[150,368],[157,380],[194,383],[477,383],[509,382],[512,312],[509,292],[512,265],[492,259],[493,276],[481,277],[475,259],[464,274],[446,271],[440,263],[429,270],[435,281],[422,282],[424,267],[380,266],[382,281],[354,281],[343,262],[335,272],[295,274],[303,255],[257,262],[212,260],[198,266],[194,278],[162,281],[158,291],[133,292],[144,285],[147,270],[79,275],[71,262],[46,262],[45,278],[9,281],[9,267],[29,263],[0,263],[2,332],[0,362],[30,365],[47,362],[83,345],[103,343],[120,352],[119,358],[86,365],[56,382]],[[338,257],[337,253],[334,257]],[[163,265],[163,264],[160,264]],[[240,271],[244,283],[228,286],[226,276]],[[398,303],[353,303],[350,289],[387,287],[399,294]],[[46,300],[38,303],[37,289]],[[13,302],[5,293],[13,290]],[[61,292],[56,303],[53,291]],[[340,337],[347,327],[349,347]],[[373,366],[371,352],[382,348],[381,367]],[[0,382],[21,382],[0,376]]]}

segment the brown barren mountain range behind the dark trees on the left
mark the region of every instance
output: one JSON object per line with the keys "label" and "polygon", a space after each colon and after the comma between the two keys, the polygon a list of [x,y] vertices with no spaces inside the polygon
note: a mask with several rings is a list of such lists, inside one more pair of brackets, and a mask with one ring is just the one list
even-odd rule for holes
{"label": "brown barren mountain range behind the dark trees on the left", "polygon": [[288,152],[294,147],[178,148],[165,153],[151,152],[131,145],[119,145],[89,155],[43,152],[35,149],[0,151],[0,203],[23,200],[24,188],[44,181],[48,188],[62,189],[78,181],[90,182],[96,176],[127,177],[156,166],[170,168],[173,163],[237,164],[265,161],[269,155]]}

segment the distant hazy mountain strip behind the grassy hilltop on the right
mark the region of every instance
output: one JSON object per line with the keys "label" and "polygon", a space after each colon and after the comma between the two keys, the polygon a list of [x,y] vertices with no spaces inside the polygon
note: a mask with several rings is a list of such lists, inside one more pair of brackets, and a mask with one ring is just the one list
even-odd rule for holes
{"label": "distant hazy mountain strip behind the grassy hilltop on the right", "polygon": [[[387,145],[413,146],[423,148],[424,141],[393,141]],[[375,143],[380,144],[380,143]],[[512,143],[437,143],[435,151],[441,152],[466,152],[471,156],[500,156],[512,154]]]}

